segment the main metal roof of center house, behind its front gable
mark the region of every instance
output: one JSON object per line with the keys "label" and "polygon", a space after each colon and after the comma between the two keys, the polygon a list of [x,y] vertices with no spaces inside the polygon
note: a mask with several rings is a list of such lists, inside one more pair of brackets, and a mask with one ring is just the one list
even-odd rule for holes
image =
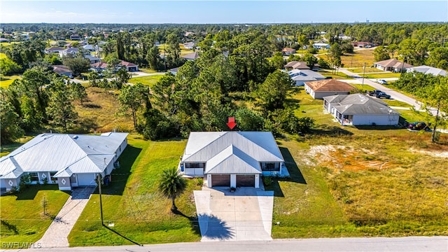
{"label": "main metal roof of center house, behind its front gable", "polygon": [[191,132],[182,162],[208,162],[229,146],[257,162],[284,161],[271,132]]}

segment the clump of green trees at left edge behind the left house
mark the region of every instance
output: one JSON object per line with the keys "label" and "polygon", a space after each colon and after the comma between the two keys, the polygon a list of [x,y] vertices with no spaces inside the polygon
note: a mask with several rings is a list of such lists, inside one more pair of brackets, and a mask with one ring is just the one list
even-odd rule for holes
{"label": "clump of green trees at left edge behind the left house", "polygon": [[43,66],[28,69],[22,79],[0,89],[1,144],[44,127],[64,132],[72,129],[78,118],[73,101],[82,102],[86,96],[82,85],[66,83]]}

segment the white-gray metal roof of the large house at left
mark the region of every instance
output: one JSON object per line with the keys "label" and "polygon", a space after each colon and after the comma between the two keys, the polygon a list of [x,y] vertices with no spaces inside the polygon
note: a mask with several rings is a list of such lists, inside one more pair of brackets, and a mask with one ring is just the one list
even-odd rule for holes
{"label": "white-gray metal roof of the large house at left", "polygon": [[127,133],[117,132],[39,134],[0,158],[0,178],[18,178],[22,172],[57,172],[57,176],[103,172],[126,137]]}

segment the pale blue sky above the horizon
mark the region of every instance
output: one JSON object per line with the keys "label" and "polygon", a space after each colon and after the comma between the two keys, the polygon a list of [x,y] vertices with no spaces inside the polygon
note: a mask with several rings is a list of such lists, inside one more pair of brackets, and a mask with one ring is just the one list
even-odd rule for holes
{"label": "pale blue sky above the horizon", "polygon": [[0,1],[0,22],[448,22],[448,1]]}

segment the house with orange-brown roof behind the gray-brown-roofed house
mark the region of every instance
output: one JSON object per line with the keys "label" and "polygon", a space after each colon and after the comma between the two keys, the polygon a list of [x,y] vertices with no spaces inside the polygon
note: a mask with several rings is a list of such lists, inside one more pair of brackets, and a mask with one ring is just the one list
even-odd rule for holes
{"label": "house with orange-brown roof behind the gray-brown-roofed house", "polygon": [[314,99],[322,99],[335,94],[350,94],[351,91],[356,90],[349,83],[335,79],[309,81],[304,83],[304,87],[305,91]]}

